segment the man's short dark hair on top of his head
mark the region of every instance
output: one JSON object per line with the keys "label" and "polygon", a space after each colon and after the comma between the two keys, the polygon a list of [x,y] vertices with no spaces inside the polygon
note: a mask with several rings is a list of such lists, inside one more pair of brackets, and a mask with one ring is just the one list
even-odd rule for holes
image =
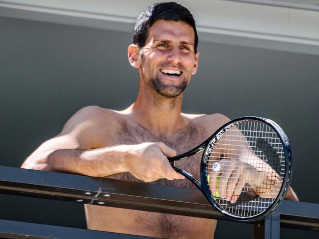
{"label": "man's short dark hair on top of his head", "polygon": [[144,47],[148,30],[157,20],[181,21],[193,27],[195,33],[194,49],[195,53],[197,52],[198,35],[194,17],[186,7],[173,1],[155,3],[141,13],[134,27],[133,43],[140,48]]}

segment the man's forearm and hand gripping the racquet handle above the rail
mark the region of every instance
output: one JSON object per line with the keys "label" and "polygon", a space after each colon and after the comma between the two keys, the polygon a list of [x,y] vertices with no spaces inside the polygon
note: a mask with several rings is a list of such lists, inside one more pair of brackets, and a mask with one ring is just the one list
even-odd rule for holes
{"label": "man's forearm and hand gripping the racquet handle above the rail", "polygon": [[[43,146],[44,147],[44,146]],[[184,179],[166,157],[176,152],[164,143],[116,145],[96,150],[37,149],[23,163],[23,168],[84,174],[92,177],[130,172],[135,178],[152,182],[166,178]]]}

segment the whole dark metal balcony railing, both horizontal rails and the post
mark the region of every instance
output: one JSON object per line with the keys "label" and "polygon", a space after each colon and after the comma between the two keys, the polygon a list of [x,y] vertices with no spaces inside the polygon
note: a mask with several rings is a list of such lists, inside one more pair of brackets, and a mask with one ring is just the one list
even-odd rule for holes
{"label": "whole dark metal balcony railing, both horizontal rails and the post", "polygon": [[[82,175],[0,166],[0,193],[99,206],[230,220],[198,189],[127,182]],[[280,228],[319,232],[319,204],[285,200],[274,213],[254,222],[254,237],[279,238]],[[147,238],[93,230],[0,220],[5,238]]]}

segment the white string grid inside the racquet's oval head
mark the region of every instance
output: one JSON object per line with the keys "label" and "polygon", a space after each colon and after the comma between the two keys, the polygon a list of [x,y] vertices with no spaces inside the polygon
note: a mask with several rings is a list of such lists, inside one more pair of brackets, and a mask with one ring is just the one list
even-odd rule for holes
{"label": "white string grid inside the racquet's oval head", "polygon": [[[274,129],[261,121],[239,121],[212,147],[206,176],[214,178],[213,174],[217,174],[219,177],[218,182],[207,180],[210,190],[217,189],[221,194],[220,186],[226,185],[223,195],[211,194],[221,210],[242,217],[267,210],[281,189],[286,168],[285,151]],[[212,164],[216,161],[221,169],[213,172]],[[228,192],[235,202],[226,200]]]}

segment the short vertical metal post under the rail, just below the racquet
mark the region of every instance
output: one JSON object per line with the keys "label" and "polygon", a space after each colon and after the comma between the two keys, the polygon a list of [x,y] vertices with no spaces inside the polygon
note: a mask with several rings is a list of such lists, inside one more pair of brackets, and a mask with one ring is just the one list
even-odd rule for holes
{"label": "short vertical metal post under the rail, just below the racquet", "polygon": [[272,213],[255,222],[254,239],[280,239],[280,214]]}

